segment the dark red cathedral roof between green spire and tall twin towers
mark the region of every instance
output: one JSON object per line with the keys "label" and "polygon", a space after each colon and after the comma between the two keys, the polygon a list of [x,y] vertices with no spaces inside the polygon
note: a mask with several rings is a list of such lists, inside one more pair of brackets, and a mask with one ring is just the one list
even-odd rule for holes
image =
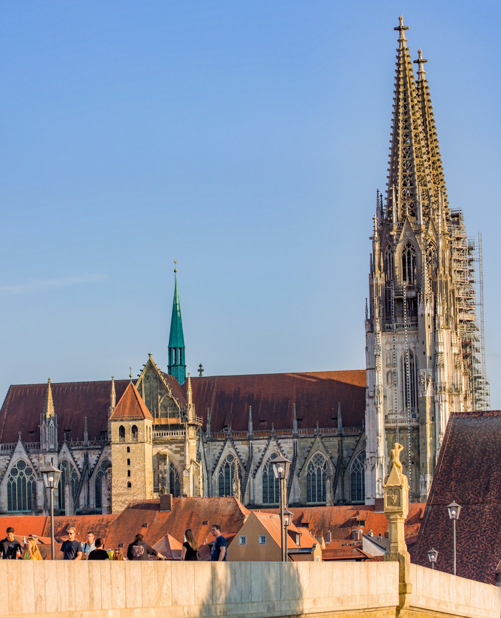
{"label": "dark red cathedral roof between green spire and tall twin towers", "polygon": [[270,373],[244,376],[192,378],[197,415],[211,430],[231,425],[246,431],[249,405],[254,430],[290,429],[296,404],[298,427],[337,427],[338,404],[344,427],[362,427],[366,407],[366,371],[319,371]]}

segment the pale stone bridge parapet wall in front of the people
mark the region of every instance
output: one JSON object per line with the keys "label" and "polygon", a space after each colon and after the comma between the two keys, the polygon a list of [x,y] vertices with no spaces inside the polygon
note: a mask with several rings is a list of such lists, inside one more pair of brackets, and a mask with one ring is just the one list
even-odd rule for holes
{"label": "pale stone bridge parapet wall in front of the people", "polygon": [[[499,618],[501,588],[412,565],[408,614]],[[0,561],[0,617],[389,618],[396,562]]]}

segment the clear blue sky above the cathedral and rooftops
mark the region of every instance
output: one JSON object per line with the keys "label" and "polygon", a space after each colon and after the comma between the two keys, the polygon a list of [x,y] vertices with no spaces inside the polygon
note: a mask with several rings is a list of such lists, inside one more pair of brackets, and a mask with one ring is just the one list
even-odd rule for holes
{"label": "clear blue sky above the cathedral and rooftops", "polygon": [[501,335],[498,2],[0,4],[0,399],[166,368],[364,368],[397,34],[422,48],[448,195]]}

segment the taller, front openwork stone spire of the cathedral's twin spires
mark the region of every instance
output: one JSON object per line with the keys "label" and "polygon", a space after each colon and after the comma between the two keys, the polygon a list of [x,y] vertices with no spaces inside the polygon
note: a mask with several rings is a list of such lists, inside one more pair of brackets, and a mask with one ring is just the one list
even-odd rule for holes
{"label": "taller, front openwork stone spire of the cathedral's twin spires", "polygon": [[[414,71],[400,15],[398,50],[396,53],[395,96],[393,104],[392,146],[388,176],[387,213],[393,224],[406,216],[416,218],[417,199],[421,188],[423,218],[429,211],[429,169],[427,148],[422,130],[421,109],[417,100]],[[396,203],[394,204],[394,200]]]}

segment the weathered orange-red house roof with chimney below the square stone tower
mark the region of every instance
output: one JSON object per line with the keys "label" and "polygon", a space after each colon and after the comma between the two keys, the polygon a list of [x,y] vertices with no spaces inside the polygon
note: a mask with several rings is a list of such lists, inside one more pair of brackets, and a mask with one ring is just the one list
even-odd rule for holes
{"label": "weathered orange-red house roof with chimney below the square stone tower", "polygon": [[236,532],[249,514],[246,507],[231,497],[173,498],[172,509],[163,511],[160,500],[133,501],[109,526],[107,543],[113,547],[124,543],[127,547],[137,534],[142,534],[152,546],[167,534],[182,541],[184,531],[191,528],[202,545],[212,540],[213,523],[219,523],[222,532]]}

